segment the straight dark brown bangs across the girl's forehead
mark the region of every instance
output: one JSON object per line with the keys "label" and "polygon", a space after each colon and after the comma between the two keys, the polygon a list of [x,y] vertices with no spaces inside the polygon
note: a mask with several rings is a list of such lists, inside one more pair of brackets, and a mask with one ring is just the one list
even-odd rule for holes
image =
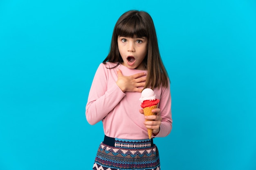
{"label": "straight dark brown bangs across the girl's forehead", "polygon": [[117,36],[123,37],[148,37],[146,24],[136,15],[123,20],[117,25],[116,33]]}

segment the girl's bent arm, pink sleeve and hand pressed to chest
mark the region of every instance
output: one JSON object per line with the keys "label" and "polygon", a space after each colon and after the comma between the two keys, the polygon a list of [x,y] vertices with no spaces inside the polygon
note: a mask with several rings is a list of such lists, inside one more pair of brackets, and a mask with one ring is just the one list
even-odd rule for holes
{"label": "girl's bent arm, pink sleeve and hand pressed to chest", "polygon": [[[117,71],[117,72],[116,72]],[[105,118],[124,98],[124,92],[141,92],[145,85],[145,73],[124,76],[121,70],[107,69],[99,65],[92,81],[86,105],[86,119],[89,124],[96,124]]]}

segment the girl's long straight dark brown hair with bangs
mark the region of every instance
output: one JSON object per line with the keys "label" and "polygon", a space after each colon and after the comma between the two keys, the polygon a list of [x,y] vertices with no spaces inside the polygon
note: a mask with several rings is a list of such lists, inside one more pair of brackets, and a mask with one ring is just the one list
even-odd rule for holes
{"label": "girl's long straight dark brown hair with bangs", "polygon": [[117,38],[118,36],[133,37],[134,35],[148,38],[148,52],[143,61],[147,70],[144,88],[154,89],[161,85],[167,87],[169,79],[159,53],[155,26],[151,16],[145,11],[127,11],[119,17],[114,27],[110,52],[103,63],[118,62],[117,65],[119,65],[123,62],[118,50]]}

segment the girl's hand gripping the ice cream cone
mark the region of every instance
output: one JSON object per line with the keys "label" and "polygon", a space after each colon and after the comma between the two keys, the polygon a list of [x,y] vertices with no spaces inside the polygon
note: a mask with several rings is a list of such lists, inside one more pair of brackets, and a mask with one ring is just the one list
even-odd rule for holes
{"label": "girl's hand gripping the ice cream cone", "polygon": [[[144,114],[143,109],[139,109],[139,112],[141,114]],[[152,112],[156,113],[156,115],[145,116],[144,124],[145,124],[146,128],[153,129],[154,135],[157,135],[160,131],[160,124],[162,121],[162,117],[161,117],[159,108],[153,109]],[[148,121],[146,121],[146,120],[148,120]]]}

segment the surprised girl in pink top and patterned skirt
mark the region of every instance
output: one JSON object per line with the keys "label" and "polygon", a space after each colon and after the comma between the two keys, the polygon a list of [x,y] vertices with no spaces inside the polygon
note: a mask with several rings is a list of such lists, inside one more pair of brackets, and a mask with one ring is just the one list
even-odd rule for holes
{"label": "surprised girl in pink top and patterned skirt", "polygon": [[[151,88],[160,100],[155,116],[144,116],[139,98]],[[170,81],[159,54],[155,26],[144,11],[128,11],[115,25],[110,52],[94,76],[85,111],[103,123],[94,170],[159,170],[154,137],[172,129]],[[150,121],[145,121],[145,120]],[[148,139],[147,128],[153,129]]]}

